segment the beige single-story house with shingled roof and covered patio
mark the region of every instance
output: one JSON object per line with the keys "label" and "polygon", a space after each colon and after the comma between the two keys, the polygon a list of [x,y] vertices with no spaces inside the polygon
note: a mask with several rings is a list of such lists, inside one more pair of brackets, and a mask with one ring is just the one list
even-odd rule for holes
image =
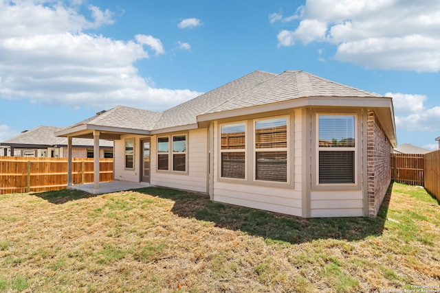
{"label": "beige single-story house with shingled roof and covered patio", "polygon": [[113,140],[115,180],[303,218],[375,217],[397,145],[391,97],[305,71],[254,71],[163,113],[116,106],[56,135]]}

